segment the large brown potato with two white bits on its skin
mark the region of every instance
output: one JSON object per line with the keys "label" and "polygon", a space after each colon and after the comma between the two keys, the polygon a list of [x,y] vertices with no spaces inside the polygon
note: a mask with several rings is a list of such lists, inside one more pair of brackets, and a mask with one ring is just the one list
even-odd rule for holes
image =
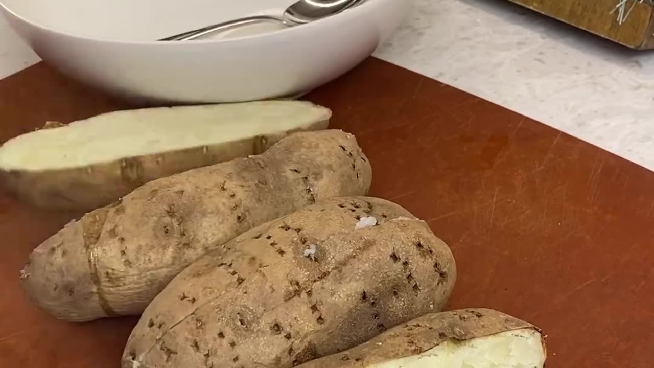
{"label": "large brown potato with two white bits on its skin", "polygon": [[[441,310],[456,279],[447,245],[388,201],[338,199],[186,268],[146,308],[123,367],[292,367]],[[354,230],[366,209],[381,225]]]}

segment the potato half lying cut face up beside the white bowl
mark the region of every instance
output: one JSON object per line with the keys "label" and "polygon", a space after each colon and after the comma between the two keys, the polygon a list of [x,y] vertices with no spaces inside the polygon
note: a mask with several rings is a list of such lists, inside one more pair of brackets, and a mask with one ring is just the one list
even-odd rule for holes
{"label": "potato half lying cut face up beside the white bowl", "polygon": [[0,170],[10,191],[35,206],[92,210],[148,181],[325,129],[331,115],[306,101],[116,111],[10,139],[0,147]]}

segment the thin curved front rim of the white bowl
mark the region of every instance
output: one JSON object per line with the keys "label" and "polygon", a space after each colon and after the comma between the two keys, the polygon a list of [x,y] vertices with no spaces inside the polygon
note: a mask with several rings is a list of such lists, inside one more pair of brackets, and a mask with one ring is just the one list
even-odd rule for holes
{"label": "thin curved front rim of the white bowl", "polygon": [[[368,8],[374,7],[376,5],[381,5],[383,2],[386,3],[394,3],[395,1],[399,1],[401,3],[409,3],[409,0],[368,0],[364,1],[363,3],[357,5],[356,7],[352,9],[348,9],[346,11],[340,12],[338,14],[334,14],[332,16],[328,16],[326,18],[322,18],[320,20],[315,20],[314,22],[303,24],[301,27],[300,26],[295,26],[295,27],[288,27],[284,29],[277,29],[275,31],[267,31],[264,33],[256,33],[253,35],[242,35],[242,36],[237,36],[237,37],[229,37],[226,39],[197,39],[193,41],[128,41],[128,40],[122,40],[122,39],[115,39],[111,37],[96,37],[96,36],[90,36],[90,35],[82,35],[80,33],[72,33],[68,31],[63,31],[61,29],[53,28],[50,26],[44,26],[43,24],[39,24],[37,22],[33,22],[32,20],[29,20],[25,16],[22,16],[18,13],[16,13],[14,10],[9,9],[9,6],[6,5],[3,0],[0,0],[0,8],[4,9],[7,13],[9,13],[11,16],[14,18],[17,18],[18,20],[27,23],[35,28],[42,29],[44,31],[48,31],[50,33],[56,33],[58,35],[61,35],[63,37],[69,37],[69,38],[74,38],[74,39],[80,39],[84,41],[101,41],[103,43],[111,43],[111,44],[120,44],[120,45],[139,45],[139,46],[164,46],[164,45],[170,45],[170,46],[179,46],[179,45],[207,45],[207,44],[217,44],[217,43],[238,43],[241,41],[251,41],[253,39],[266,39],[266,38],[271,38],[271,37],[284,37],[283,35],[286,33],[294,32],[297,31],[296,29],[309,29],[309,28],[316,28],[324,25],[325,22],[334,22],[335,20],[341,20],[342,22],[345,22],[347,18],[353,18],[355,16],[361,16],[363,14],[366,14],[366,11]],[[378,3],[378,4],[377,4]],[[408,5],[408,4],[407,4]],[[352,15],[354,14],[354,15]],[[12,26],[13,28],[13,26]]]}

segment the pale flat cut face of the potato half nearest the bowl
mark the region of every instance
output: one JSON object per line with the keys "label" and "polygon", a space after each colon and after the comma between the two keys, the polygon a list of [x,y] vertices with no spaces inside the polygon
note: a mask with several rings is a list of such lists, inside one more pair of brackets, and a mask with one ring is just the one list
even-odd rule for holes
{"label": "pale flat cut face of the potato half nearest the bowl", "polygon": [[0,169],[77,168],[300,129],[331,115],[306,101],[116,111],[10,139],[0,147]]}

